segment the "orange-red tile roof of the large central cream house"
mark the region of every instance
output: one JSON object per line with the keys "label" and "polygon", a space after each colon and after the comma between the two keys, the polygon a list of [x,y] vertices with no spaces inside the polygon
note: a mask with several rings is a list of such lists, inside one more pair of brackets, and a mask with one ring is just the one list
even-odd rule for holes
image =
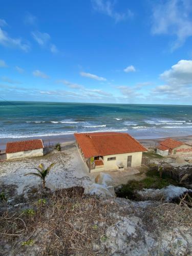
{"label": "orange-red tile roof of the large central cream house", "polygon": [[74,136],[85,158],[147,151],[127,133],[75,133]]}

